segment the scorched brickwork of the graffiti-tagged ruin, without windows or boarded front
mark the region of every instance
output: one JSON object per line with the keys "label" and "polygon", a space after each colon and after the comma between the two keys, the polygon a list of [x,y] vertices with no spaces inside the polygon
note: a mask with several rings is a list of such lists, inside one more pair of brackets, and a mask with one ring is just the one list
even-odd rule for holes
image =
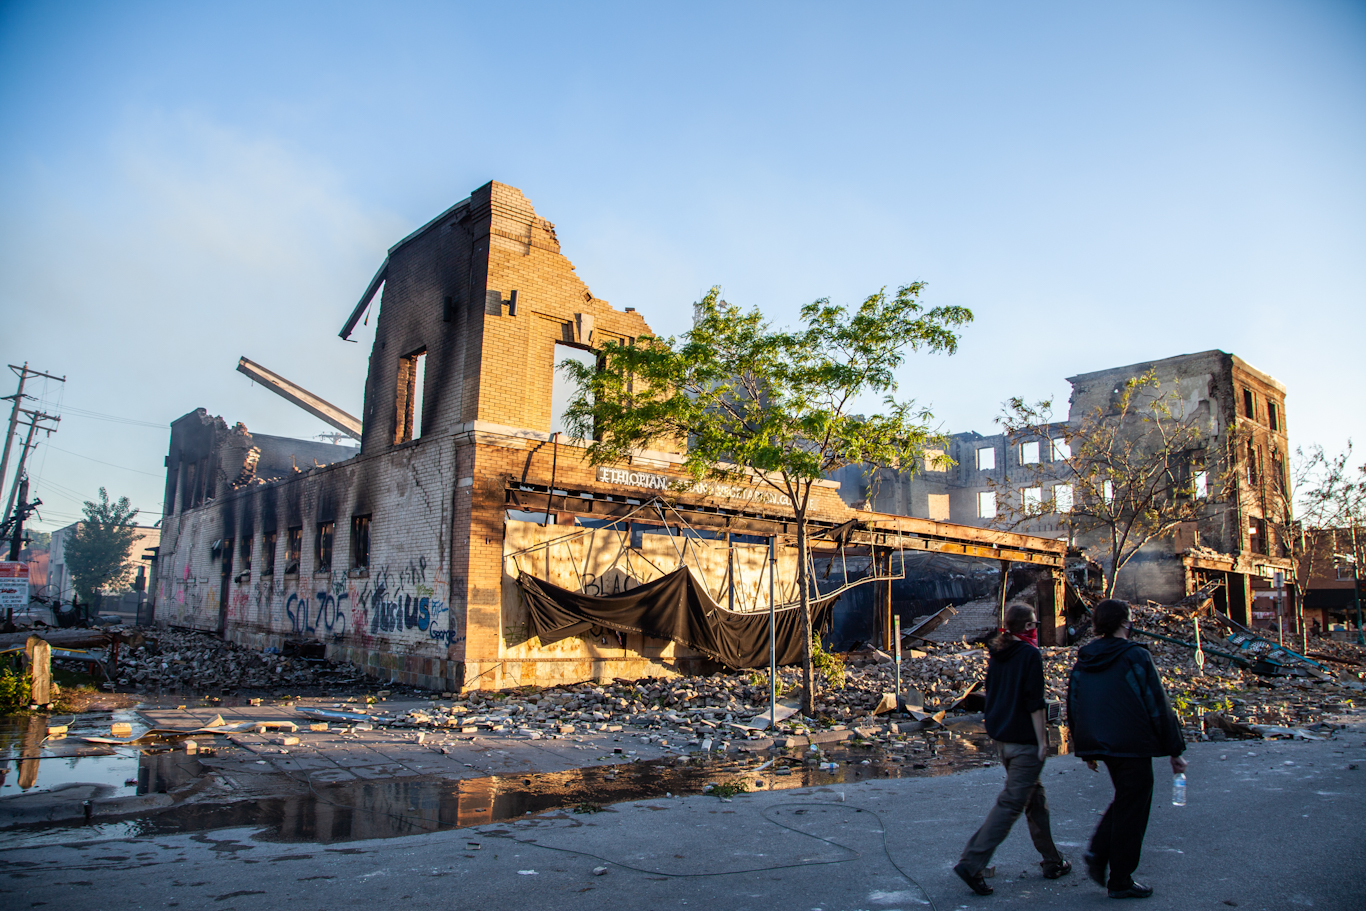
{"label": "scorched brickwork of the graffiti-tagged ruin, without windows or boarded front", "polygon": [[[234,486],[236,475],[221,470],[232,437],[225,422],[201,410],[173,425],[158,621],[223,628],[260,647],[317,639],[329,656],[378,677],[438,690],[664,672],[663,661],[686,658],[672,643],[641,642],[617,654],[586,639],[542,647],[519,641],[510,630],[516,617],[504,611],[510,489],[526,482],[641,499],[656,493],[600,482],[582,445],[552,441],[549,433],[556,343],[591,350],[628,341],[649,333],[643,318],[594,298],[560,254],[553,225],[499,183],[389,250],[376,318],[361,455]],[[406,358],[418,351],[426,352],[422,432],[408,440],[404,406],[417,389]],[[199,463],[220,466],[212,483],[194,485],[202,504],[178,493],[189,486],[187,466]],[[679,463],[669,451],[646,452],[630,468],[682,477]],[[785,504],[743,490],[679,496],[743,508],[791,531]],[[831,522],[874,518],[851,511],[832,482],[817,488],[811,512]],[[365,571],[350,563],[355,516],[370,518]],[[324,570],[314,535],[325,522],[335,533],[332,565]],[[285,572],[290,529],[302,529],[296,572]],[[1055,546],[934,523],[915,530],[945,538],[971,531],[988,548]],[[272,533],[273,572],[264,552]],[[251,542],[250,568],[243,539]]]}

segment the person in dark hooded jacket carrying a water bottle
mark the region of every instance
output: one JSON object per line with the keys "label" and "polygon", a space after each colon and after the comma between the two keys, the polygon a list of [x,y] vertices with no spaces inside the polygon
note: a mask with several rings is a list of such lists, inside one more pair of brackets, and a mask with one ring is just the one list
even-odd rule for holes
{"label": "person in dark hooded jacket carrying a water bottle", "polygon": [[1152,656],[1128,639],[1128,605],[1101,601],[1091,624],[1100,638],[1076,653],[1067,717],[1074,753],[1091,772],[1097,759],[1105,763],[1115,799],[1091,836],[1086,871],[1112,899],[1146,899],[1153,889],[1134,882],[1134,870],[1153,804],[1153,757],[1171,757],[1172,772],[1184,772],[1186,739]]}

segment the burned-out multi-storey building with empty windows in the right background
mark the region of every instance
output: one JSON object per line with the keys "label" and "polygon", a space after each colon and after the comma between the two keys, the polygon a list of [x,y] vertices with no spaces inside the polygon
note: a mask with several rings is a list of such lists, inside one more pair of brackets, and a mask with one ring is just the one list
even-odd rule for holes
{"label": "burned-out multi-storey building with empty windows in the right background", "polygon": [[[1285,387],[1224,351],[1203,351],[1070,377],[1068,419],[1031,434],[958,433],[914,473],[840,475],[851,503],[873,509],[981,527],[1001,527],[1020,511],[1005,500],[1071,503],[1067,433],[1096,414],[1112,414],[1124,384],[1152,373],[1175,415],[1194,423],[1186,453],[1198,518],[1145,545],[1119,575],[1116,594],[1172,604],[1210,583],[1216,606],[1246,626],[1295,617],[1294,524]],[[936,458],[947,456],[947,458]],[[1065,488],[1065,489],[1061,489]],[[1030,516],[1014,527],[1057,537],[1083,550],[1097,533],[1072,534],[1067,515]],[[1281,585],[1276,585],[1280,575]]]}

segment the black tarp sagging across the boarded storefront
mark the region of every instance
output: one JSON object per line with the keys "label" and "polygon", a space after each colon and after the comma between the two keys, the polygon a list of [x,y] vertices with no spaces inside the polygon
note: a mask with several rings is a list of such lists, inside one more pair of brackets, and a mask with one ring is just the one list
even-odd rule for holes
{"label": "black tarp sagging across the boarded storefront", "polygon": [[[698,585],[687,567],[605,598],[570,591],[525,572],[518,576],[518,585],[530,608],[531,632],[541,642],[557,642],[591,627],[605,627],[672,639],[731,668],[764,668],[769,662],[768,612],[727,611]],[[829,628],[835,601],[811,602],[811,626],[817,635]],[[802,660],[802,609],[791,605],[775,613],[777,662],[798,664]]]}

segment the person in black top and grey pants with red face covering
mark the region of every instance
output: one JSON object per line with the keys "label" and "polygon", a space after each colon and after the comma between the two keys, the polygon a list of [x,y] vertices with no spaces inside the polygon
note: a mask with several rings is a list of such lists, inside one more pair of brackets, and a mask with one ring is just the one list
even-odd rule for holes
{"label": "person in black top and grey pants with red face covering", "polygon": [[1044,877],[1056,880],[1071,871],[1053,844],[1048,822],[1048,799],[1040,774],[1048,757],[1048,720],[1044,705],[1044,657],[1027,638],[1038,623],[1034,609],[1012,604],[1005,611],[1005,632],[990,645],[986,665],[986,732],[996,740],[1005,765],[1005,788],[996,796],[996,806],[986,822],[968,840],[963,856],[953,867],[963,882],[978,895],[990,895],[982,871],[996,848],[1009,835],[1011,826],[1024,813],[1029,835],[1044,860]]}

